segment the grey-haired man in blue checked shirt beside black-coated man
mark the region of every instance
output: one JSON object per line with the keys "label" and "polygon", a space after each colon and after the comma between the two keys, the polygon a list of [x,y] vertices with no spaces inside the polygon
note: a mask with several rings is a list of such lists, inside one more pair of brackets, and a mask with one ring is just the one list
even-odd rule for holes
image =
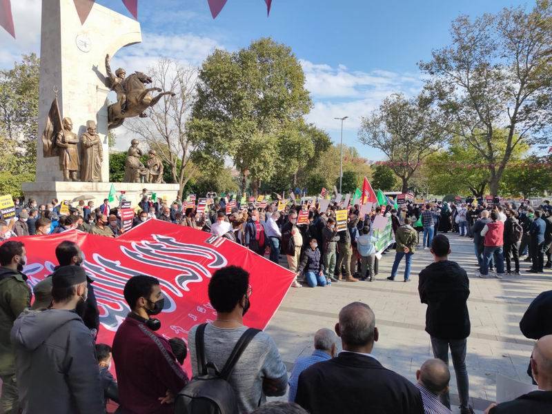
{"label": "grey-haired man in blue checked shirt beside black-coated man", "polygon": [[319,329],[315,333],[314,345],[315,351],[313,352],[313,355],[309,355],[308,357],[299,357],[293,365],[293,369],[291,370],[288,380],[288,400],[290,402],[295,401],[299,375],[301,375],[301,373],[309,366],[316,364],[317,362],[327,361],[337,355],[337,335],[335,335],[331,329]]}

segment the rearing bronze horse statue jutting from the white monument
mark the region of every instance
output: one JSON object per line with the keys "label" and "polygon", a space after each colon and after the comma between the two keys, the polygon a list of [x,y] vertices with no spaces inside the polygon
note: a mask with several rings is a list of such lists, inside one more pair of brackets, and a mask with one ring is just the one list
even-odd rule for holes
{"label": "rearing bronze horse statue jutting from the white monument", "polygon": [[[134,72],[127,77],[123,83],[126,91],[126,110],[121,114],[121,105],[119,102],[112,103],[108,107],[108,128],[113,129],[121,126],[125,118],[141,117],[148,115],[144,113],[147,108],[154,106],[161,97],[165,95],[175,96],[174,92],[163,92],[161,88],[146,88],[147,83],[152,83],[152,79],[142,72]],[[161,92],[156,97],[152,97],[150,92]]]}

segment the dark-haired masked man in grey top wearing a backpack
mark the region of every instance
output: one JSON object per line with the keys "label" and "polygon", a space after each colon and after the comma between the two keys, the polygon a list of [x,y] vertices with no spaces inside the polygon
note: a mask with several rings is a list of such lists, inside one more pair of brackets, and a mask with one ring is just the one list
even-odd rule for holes
{"label": "dark-haired masked man in grey top wearing a backpack", "polygon": [[[198,375],[196,335],[203,331],[206,360],[221,370],[239,338],[248,331],[244,315],[250,308],[252,293],[249,273],[242,268],[227,266],[213,274],[208,295],[210,304],[217,311],[217,319],[209,324],[194,326],[188,333],[194,376]],[[235,390],[240,414],[255,410],[259,404],[266,402],[267,395],[281,396],[286,393],[286,366],[268,334],[260,331],[251,339],[237,360],[228,382]]]}

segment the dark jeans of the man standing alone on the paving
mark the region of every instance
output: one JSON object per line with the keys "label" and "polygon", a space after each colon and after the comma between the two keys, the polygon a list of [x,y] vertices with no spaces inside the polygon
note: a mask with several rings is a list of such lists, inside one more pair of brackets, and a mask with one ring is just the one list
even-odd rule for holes
{"label": "dark jeans of the man standing alone on the paving", "polygon": [[[460,406],[462,408],[468,408],[469,379],[468,370],[466,369],[466,339],[440,339],[431,337],[433,357],[441,359],[446,365],[449,365],[449,346],[453,356],[453,366],[458,387],[458,397],[460,397]],[[441,395],[441,402],[447,408],[451,408],[451,397],[448,391]]]}

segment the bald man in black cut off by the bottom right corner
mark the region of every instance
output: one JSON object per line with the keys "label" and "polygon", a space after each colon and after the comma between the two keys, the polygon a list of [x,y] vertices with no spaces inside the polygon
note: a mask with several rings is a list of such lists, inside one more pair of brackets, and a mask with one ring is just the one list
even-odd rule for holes
{"label": "bald man in black cut off by the bottom right corner", "polygon": [[539,389],[513,401],[491,404],[485,414],[552,413],[552,335],[540,338],[533,348],[531,371]]}

